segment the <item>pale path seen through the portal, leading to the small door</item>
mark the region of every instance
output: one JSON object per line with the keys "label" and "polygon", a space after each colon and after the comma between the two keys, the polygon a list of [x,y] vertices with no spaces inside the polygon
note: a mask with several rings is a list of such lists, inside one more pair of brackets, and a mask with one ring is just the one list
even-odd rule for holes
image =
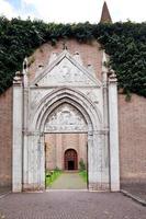
{"label": "pale path seen through the portal, leading to the small door", "polygon": [[52,189],[87,189],[78,172],[64,172],[50,186]]}

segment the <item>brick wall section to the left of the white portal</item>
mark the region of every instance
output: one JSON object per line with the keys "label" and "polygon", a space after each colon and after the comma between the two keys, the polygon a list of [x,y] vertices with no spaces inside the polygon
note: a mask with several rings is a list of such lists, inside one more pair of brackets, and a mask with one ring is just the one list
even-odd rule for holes
{"label": "brick wall section to the left of the white portal", "polygon": [[12,89],[0,95],[0,186],[12,181]]}

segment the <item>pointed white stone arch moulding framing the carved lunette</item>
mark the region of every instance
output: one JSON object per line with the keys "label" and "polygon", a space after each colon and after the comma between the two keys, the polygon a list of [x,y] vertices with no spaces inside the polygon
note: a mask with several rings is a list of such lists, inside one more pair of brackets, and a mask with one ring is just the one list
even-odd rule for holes
{"label": "pointed white stone arch moulding framing the carved lunette", "polygon": [[37,105],[32,120],[32,129],[44,131],[44,126],[48,115],[60,104],[69,103],[76,107],[85,117],[89,130],[100,130],[102,125],[102,116],[94,104],[81,92],[75,92],[72,89],[56,89],[41,101]]}

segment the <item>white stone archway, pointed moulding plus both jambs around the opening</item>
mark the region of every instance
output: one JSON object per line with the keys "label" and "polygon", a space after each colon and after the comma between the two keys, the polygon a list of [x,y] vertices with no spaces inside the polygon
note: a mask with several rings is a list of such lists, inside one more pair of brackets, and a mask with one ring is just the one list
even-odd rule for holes
{"label": "white stone archway, pointed moulding plus both jambs around the opening", "polygon": [[[36,147],[34,153],[37,160],[35,165],[32,160],[33,169],[31,170],[33,170],[34,175],[31,173],[30,176],[35,178],[36,186],[38,185],[41,188],[45,187],[45,135],[50,132],[61,132],[60,130],[49,130],[48,127],[56,122],[52,117],[53,112],[64,104],[67,104],[77,111],[81,115],[81,120],[83,119],[87,124],[87,129],[85,129],[83,132],[88,136],[87,157],[89,189],[98,189],[102,185],[102,182],[104,184],[103,186],[109,186],[108,169],[105,168],[106,158],[103,154],[104,132],[102,132],[101,111],[87,95],[80,91],[75,91],[66,87],[55,89],[46,94],[34,111],[34,116],[32,116],[32,120],[30,122],[32,137],[29,137],[29,148],[31,150],[31,148],[33,149]],[[65,120],[70,115],[65,110]],[[53,119],[49,120],[49,118]],[[81,129],[79,128],[78,131],[80,132]],[[29,157],[29,159],[31,161],[32,158]],[[32,180],[31,177],[29,178],[30,182]]]}

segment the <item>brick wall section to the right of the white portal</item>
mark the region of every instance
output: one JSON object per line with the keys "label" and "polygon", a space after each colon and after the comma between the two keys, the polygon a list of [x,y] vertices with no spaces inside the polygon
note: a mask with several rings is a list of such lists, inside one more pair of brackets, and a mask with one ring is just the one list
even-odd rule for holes
{"label": "brick wall section to the right of the white portal", "polygon": [[146,182],[146,99],[119,95],[121,183]]}

